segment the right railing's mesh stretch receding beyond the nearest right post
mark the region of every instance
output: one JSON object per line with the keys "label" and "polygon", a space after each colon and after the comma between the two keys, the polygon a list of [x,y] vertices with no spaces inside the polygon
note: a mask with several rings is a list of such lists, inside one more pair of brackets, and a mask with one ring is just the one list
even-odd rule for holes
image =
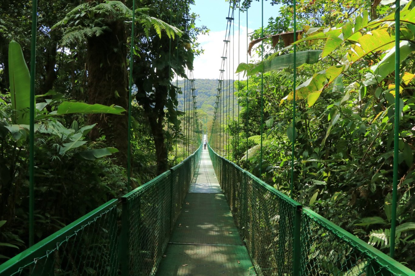
{"label": "right railing's mesh stretch receding beyond the nearest right post", "polygon": [[209,150],[258,275],[293,275],[301,205]]}

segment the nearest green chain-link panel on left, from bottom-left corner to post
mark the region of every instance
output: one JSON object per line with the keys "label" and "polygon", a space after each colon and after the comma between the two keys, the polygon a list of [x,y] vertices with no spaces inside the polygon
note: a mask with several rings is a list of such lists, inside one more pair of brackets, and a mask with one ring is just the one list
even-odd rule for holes
{"label": "nearest green chain-link panel on left, from bottom-left corner to post", "polygon": [[113,199],[6,261],[0,275],[118,275],[118,234]]}

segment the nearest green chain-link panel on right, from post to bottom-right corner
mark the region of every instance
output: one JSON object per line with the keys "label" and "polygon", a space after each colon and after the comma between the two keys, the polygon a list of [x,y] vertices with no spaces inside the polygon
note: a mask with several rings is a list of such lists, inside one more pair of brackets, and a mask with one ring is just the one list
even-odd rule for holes
{"label": "nearest green chain-link panel on right, from post to bottom-right corner", "polygon": [[409,276],[415,272],[308,208],[303,209],[300,275]]}

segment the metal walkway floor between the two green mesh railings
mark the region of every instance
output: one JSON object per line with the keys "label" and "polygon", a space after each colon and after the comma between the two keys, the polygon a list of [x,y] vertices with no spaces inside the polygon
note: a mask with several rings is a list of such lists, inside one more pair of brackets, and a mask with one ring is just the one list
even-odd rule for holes
{"label": "metal walkway floor between the two green mesh railings", "polygon": [[254,265],[206,150],[157,276],[253,276]]}

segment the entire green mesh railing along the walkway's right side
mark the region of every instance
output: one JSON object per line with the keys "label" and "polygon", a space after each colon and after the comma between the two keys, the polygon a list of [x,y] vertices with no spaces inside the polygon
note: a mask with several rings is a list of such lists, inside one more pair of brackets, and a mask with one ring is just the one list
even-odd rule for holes
{"label": "entire green mesh railing along the walkway's right side", "polygon": [[209,148],[258,275],[415,276],[415,272]]}

